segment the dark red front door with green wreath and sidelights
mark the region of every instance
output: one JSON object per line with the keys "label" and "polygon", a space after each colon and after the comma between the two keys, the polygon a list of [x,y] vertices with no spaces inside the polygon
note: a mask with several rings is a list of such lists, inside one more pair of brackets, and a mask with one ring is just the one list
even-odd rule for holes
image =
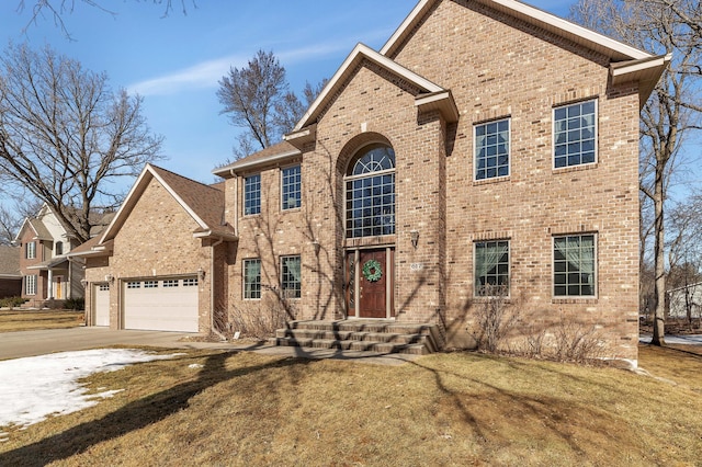
{"label": "dark red front door with green wreath and sidelights", "polygon": [[393,307],[393,249],[347,252],[349,317],[389,318]]}

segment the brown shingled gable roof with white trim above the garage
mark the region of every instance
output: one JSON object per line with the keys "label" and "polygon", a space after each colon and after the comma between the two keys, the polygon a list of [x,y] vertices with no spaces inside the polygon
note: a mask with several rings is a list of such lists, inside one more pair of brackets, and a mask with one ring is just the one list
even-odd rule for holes
{"label": "brown shingled gable roof with white trim above the garage", "polygon": [[100,236],[98,244],[92,247],[93,249],[100,244],[104,244],[116,236],[132,213],[132,209],[136,206],[137,201],[154,179],[158,180],[178,204],[197,223],[199,227],[193,232],[194,235],[197,237],[215,236],[228,239],[235,238],[234,228],[224,221],[224,193],[222,190],[217,186],[205,185],[166,169],[146,164],[112,219],[112,223],[110,223]]}

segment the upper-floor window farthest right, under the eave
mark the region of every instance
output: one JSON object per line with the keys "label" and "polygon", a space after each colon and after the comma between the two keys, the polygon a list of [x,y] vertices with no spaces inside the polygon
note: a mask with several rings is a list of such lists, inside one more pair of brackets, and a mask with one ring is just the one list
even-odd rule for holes
{"label": "upper-floor window farthest right, under the eave", "polygon": [[580,166],[596,160],[596,101],[554,109],[554,167]]}

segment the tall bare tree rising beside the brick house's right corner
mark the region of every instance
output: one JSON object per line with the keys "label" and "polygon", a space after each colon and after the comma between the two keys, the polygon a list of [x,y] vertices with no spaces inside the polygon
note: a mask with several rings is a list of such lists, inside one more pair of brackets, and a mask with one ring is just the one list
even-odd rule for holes
{"label": "tall bare tree rising beside the brick house's right corner", "polygon": [[[671,8],[678,13],[671,14]],[[654,337],[665,344],[666,230],[668,189],[683,137],[698,124],[702,48],[699,2],[690,0],[579,0],[571,16],[591,29],[655,54],[672,54],[669,68],[642,111],[639,189],[653,204]]]}

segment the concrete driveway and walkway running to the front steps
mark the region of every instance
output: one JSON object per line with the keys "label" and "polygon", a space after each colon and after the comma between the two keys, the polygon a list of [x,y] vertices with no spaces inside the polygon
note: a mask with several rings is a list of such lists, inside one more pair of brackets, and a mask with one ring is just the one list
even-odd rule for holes
{"label": "concrete driveway and walkway running to the front steps", "polygon": [[186,332],[114,331],[100,327],[4,332],[0,333],[0,360],[21,358],[54,352],[109,348],[113,345],[144,345],[165,349],[222,349],[299,358],[350,360],[380,365],[401,365],[418,357],[418,355],[406,354],[374,354],[358,351],[274,346],[268,343],[247,344],[240,342],[188,341],[188,338],[196,335],[199,334]]}

